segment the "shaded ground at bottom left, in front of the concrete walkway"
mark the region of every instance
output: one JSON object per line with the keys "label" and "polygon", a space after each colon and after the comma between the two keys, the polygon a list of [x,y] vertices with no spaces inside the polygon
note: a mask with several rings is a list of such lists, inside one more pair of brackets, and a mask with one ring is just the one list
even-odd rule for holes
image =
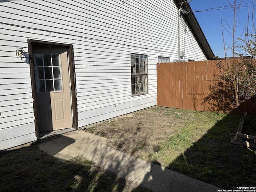
{"label": "shaded ground at bottom left, in front of the concrete walkway", "polygon": [[[72,138],[59,138],[62,142],[52,145],[52,155],[74,143]],[[52,155],[42,152],[37,145],[0,154],[0,192],[147,191],[82,156],[58,160]]]}

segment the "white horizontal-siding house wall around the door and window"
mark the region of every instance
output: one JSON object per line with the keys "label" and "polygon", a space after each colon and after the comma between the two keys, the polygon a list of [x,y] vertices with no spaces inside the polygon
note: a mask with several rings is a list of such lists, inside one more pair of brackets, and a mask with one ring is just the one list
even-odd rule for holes
{"label": "white horizontal-siding house wall around the door and window", "polygon": [[[74,46],[78,127],[156,105],[158,56],[178,59],[172,0],[0,1],[0,10],[0,150],[37,139],[28,39]],[[185,59],[206,60],[182,27]],[[148,94],[131,94],[131,53],[148,55]]]}

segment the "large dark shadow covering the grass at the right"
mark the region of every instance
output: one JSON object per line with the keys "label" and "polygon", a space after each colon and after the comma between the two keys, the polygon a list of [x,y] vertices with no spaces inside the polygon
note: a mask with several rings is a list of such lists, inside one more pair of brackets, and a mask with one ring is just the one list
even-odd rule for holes
{"label": "large dark shadow covering the grass at the right", "polygon": [[[198,113],[207,115],[207,113]],[[247,148],[230,142],[230,139],[234,138],[240,118],[242,118],[241,115],[235,116],[237,117],[235,121],[234,115],[227,115],[218,121],[167,168],[224,189],[237,190],[239,186],[255,187],[255,148]],[[205,118],[210,117],[206,116]],[[255,126],[256,117],[249,116],[249,119],[251,122],[254,121]],[[245,125],[244,129],[246,134],[252,133],[248,124]],[[144,181],[147,182],[146,185],[148,186],[154,185],[153,174],[148,173]],[[170,182],[172,182],[172,178],[170,178]]]}

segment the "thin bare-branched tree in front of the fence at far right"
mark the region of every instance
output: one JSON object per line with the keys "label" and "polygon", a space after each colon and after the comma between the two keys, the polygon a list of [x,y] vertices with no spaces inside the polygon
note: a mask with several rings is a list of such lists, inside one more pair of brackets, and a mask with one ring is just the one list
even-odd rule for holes
{"label": "thin bare-branched tree in front of the fence at far right", "polygon": [[[230,89],[234,91],[235,106],[240,108],[242,101],[256,96],[256,30],[253,25],[253,33],[248,33],[250,18],[250,9],[248,9],[247,25],[244,26],[244,30],[241,32],[240,36],[236,37],[236,30],[240,24],[238,21],[238,14],[243,0],[240,2],[234,0],[234,3],[231,3],[229,0],[227,1],[234,12],[234,15],[232,25],[228,24],[226,20],[224,20],[224,25],[221,18],[222,38],[226,60],[220,62],[220,68],[223,69],[222,78],[230,86]],[[254,6],[252,15],[253,13]],[[246,28],[247,32],[245,33]],[[227,43],[227,38],[224,35],[224,32],[231,34],[232,40],[230,44]],[[238,48],[240,51],[242,50],[242,53],[236,52]],[[231,50],[232,59],[227,58],[227,50]]]}

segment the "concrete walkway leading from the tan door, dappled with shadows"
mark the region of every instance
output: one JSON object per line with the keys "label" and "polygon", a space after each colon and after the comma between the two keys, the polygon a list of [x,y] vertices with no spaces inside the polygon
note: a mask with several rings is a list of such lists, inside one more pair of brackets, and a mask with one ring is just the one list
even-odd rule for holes
{"label": "concrete walkway leading from the tan door, dappled with shadows", "polygon": [[84,156],[96,165],[154,192],[217,192],[220,189],[110,148],[106,146],[107,142],[106,138],[78,130],[42,140],[39,147],[61,160]]}

